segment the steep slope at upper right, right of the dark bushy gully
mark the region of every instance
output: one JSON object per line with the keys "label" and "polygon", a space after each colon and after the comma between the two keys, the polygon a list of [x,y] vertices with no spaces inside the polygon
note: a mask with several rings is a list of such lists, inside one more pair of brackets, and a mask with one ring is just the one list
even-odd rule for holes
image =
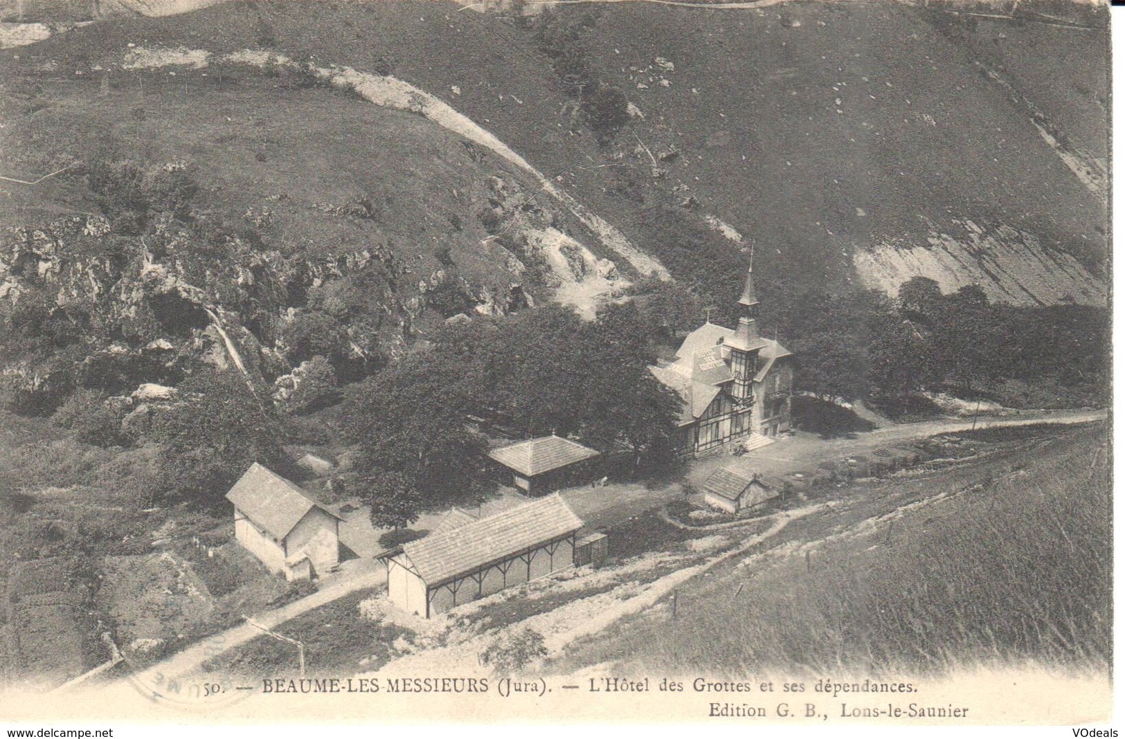
{"label": "steep slope at upper right, right of the dark bushy gully", "polygon": [[[874,247],[885,262],[886,245],[904,244],[942,252],[930,261],[963,265],[962,283],[982,281],[1000,299],[1102,303],[1106,205],[1076,171],[1074,150],[1105,156],[1105,118],[1081,105],[1079,146],[1053,145],[1044,130],[1078,127],[1082,115],[1053,120],[1062,101],[1104,96],[1105,29],[1052,27],[1052,37],[1084,42],[1066,46],[1080,73],[1025,87],[990,75],[1002,67],[979,47],[1008,58],[1032,31],[993,20],[951,34],[945,25],[945,15],[892,3],[737,15],[626,3],[601,12],[588,44],[645,114],[633,132],[650,150],[680,150],[662,163],[667,179],[765,247],[766,282],[799,265],[839,279],[855,256],[865,281],[893,291],[925,274],[926,261],[897,264],[892,277],[872,273],[861,255]],[[708,43],[690,42],[700,38]],[[1042,43],[1035,54],[1041,65],[1056,58]],[[966,220],[992,225],[988,243]],[[982,253],[1027,265],[992,276],[976,265]]]}

